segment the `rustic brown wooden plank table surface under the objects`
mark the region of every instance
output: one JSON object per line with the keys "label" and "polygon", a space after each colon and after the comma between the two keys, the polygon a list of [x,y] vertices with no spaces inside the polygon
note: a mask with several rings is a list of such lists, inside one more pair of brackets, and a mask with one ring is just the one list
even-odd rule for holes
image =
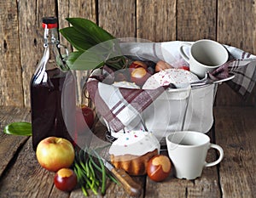
{"label": "rustic brown wooden plank table surface under the objects", "polygon": [[[211,141],[224,149],[218,166],[204,169],[201,178],[177,179],[173,174],[155,183],[147,177],[134,177],[143,186],[140,197],[255,197],[256,195],[256,108],[214,108],[215,125]],[[10,122],[30,121],[29,109],[0,107],[0,197],[84,197],[81,190],[64,193],[55,189],[54,173],[38,165],[31,137],[6,135]],[[210,150],[207,161],[217,157]],[[90,197],[97,197],[89,191]],[[130,197],[121,186],[108,184],[104,197]]]}

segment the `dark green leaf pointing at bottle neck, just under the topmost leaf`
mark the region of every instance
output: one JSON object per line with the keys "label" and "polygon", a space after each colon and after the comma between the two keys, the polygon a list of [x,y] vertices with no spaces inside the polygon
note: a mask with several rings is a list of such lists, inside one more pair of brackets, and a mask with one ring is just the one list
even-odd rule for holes
{"label": "dark green leaf pointing at bottle neck, just under the topmost leaf", "polygon": [[94,46],[94,43],[91,43],[89,37],[85,37],[73,27],[63,28],[60,32],[74,48],[80,51],[85,51]]}

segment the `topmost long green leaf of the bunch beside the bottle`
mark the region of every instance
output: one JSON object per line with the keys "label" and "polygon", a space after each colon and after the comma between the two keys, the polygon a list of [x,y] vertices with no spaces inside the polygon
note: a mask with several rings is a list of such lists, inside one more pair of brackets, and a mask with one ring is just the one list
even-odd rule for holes
{"label": "topmost long green leaf of the bunch beside the bottle", "polygon": [[92,41],[94,41],[95,44],[114,39],[114,37],[108,33],[108,31],[103,30],[90,20],[83,18],[67,18],[67,21],[85,37],[89,37]]}

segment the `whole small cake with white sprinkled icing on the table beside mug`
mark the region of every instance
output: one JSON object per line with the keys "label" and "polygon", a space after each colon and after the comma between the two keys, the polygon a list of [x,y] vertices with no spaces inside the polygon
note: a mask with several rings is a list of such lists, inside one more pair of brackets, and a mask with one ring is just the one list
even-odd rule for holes
{"label": "whole small cake with white sprinkled icing on the table beside mug", "polygon": [[115,140],[109,149],[114,167],[122,168],[130,175],[147,173],[148,161],[159,154],[160,143],[153,133],[129,131]]}

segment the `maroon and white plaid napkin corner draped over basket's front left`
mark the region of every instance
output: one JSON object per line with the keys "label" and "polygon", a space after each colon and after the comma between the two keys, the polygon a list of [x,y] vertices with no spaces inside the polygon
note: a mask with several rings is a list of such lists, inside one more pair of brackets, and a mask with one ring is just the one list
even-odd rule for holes
{"label": "maroon and white plaid napkin corner draped over basket's front left", "polygon": [[107,66],[103,70],[93,71],[87,82],[87,90],[98,113],[118,132],[139,116],[166,88],[117,88],[108,84],[113,82],[112,74],[113,71]]}

